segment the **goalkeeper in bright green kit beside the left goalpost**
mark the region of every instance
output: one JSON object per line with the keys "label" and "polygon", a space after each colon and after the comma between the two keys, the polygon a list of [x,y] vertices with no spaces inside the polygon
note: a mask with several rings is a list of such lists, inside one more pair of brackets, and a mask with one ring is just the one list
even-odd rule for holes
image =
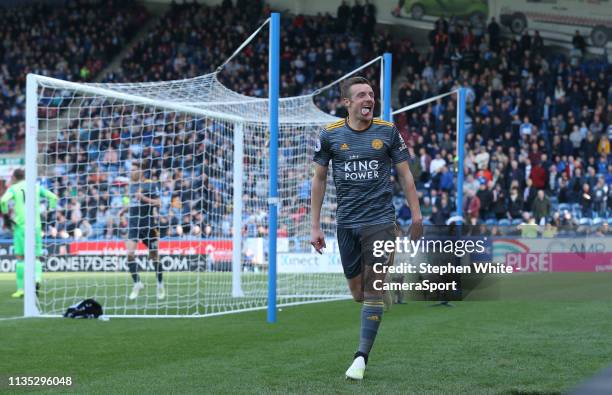
{"label": "goalkeeper in bright green kit beside the left goalpost", "polygon": [[[15,271],[17,272],[17,292],[13,298],[23,297],[23,272],[24,272],[24,245],[25,245],[25,171],[16,169],[11,178],[11,186],[6,190],[0,199],[0,212],[4,217],[4,225],[13,230],[13,250],[17,263]],[[42,223],[40,220],[40,198],[46,198],[49,202],[49,209],[53,210],[57,205],[57,196],[48,189],[37,185],[36,186],[36,256],[42,255]],[[9,202],[13,201],[13,215],[9,214]],[[40,288],[42,281],[42,264],[36,259],[36,290]]]}

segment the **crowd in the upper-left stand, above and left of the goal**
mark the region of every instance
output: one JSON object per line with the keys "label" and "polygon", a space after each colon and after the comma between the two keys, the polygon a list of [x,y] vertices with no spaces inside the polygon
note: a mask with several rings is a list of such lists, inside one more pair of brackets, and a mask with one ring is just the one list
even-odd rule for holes
{"label": "crowd in the upper-left stand, above and left of the goal", "polygon": [[148,19],[133,1],[71,0],[2,7],[0,12],[0,152],[25,138],[25,81],[37,73],[91,81]]}

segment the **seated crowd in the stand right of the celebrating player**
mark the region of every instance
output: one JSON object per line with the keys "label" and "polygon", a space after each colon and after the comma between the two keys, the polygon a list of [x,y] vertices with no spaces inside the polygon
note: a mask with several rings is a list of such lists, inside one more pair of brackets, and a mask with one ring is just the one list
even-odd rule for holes
{"label": "seated crowd in the stand right of the celebrating player", "polygon": [[[579,35],[579,34],[578,34]],[[430,49],[405,41],[402,106],[467,88],[463,212],[469,223],[537,224],[608,232],[612,213],[612,90],[605,60],[583,59],[583,41],[566,56],[536,31],[504,39],[492,19],[480,28],[439,19]],[[413,155],[411,169],[429,221],[456,210],[456,102],[441,99],[395,122]],[[410,213],[398,200],[400,223]],[[494,228],[494,229],[493,229]]]}

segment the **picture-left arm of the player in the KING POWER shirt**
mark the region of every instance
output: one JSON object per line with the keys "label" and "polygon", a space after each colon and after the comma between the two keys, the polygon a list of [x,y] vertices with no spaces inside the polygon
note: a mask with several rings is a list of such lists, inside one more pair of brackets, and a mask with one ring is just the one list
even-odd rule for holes
{"label": "picture-left arm of the player in the KING POWER shirt", "polygon": [[327,140],[327,132],[324,129],[319,133],[319,138],[315,143],[315,169],[310,193],[312,216],[310,244],[312,244],[319,254],[321,254],[321,250],[325,248],[325,235],[321,229],[321,207],[323,206],[323,197],[325,196],[325,189],[327,187],[327,166],[330,159],[331,150]]}

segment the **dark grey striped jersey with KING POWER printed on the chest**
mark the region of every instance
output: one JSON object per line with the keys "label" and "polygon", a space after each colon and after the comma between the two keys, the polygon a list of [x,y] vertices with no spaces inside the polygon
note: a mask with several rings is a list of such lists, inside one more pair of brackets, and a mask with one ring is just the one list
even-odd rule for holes
{"label": "dark grey striped jersey with KING POWER printed on the chest", "polygon": [[404,140],[390,122],[374,119],[356,131],[346,119],[327,125],[319,133],[314,161],[332,161],[339,227],[355,228],[395,221],[391,167],[408,160]]}

